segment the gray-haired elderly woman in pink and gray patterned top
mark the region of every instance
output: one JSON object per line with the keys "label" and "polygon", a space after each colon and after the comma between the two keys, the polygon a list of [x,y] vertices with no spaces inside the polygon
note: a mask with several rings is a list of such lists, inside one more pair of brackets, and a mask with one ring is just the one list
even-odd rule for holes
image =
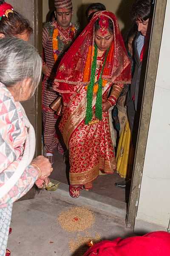
{"label": "gray-haired elderly woman in pink and gray patterned top", "polygon": [[0,256],[6,255],[14,201],[51,173],[47,158],[33,160],[34,128],[20,104],[34,94],[41,69],[37,50],[26,41],[0,40]]}

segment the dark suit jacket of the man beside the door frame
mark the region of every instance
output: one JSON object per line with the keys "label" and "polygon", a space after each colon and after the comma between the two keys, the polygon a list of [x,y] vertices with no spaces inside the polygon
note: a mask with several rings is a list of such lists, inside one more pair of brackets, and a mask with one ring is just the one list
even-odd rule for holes
{"label": "dark suit jacket of the man beside the door frame", "polygon": [[140,84],[140,76],[141,76],[141,70],[142,70],[142,61],[140,61],[137,47],[136,47],[136,41],[139,38],[140,32],[136,34],[136,37],[134,38],[133,41],[133,58],[134,58],[134,65],[135,65],[135,70],[133,73],[133,79],[132,83],[130,84],[130,90],[127,93],[127,100],[126,100],[126,105],[130,102],[130,100],[133,100],[133,95],[135,96],[135,110],[137,111],[137,105],[138,105],[138,96],[139,96],[139,84]]}

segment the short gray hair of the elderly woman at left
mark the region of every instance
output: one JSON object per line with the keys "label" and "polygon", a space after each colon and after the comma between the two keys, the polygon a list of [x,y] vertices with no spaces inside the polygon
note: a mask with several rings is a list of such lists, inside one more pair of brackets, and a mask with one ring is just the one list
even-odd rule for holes
{"label": "short gray hair of the elderly woman at left", "polygon": [[42,60],[37,49],[18,38],[0,39],[0,82],[12,87],[31,78],[34,94],[41,78]]}

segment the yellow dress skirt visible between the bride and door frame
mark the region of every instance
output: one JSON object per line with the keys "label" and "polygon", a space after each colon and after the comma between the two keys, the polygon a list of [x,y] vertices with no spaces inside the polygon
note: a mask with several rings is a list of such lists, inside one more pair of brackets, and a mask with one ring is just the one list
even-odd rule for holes
{"label": "yellow dress skirt visible between the bride and door frame", "polygon": [[129,177],[130,167],[133,159],[133,148],[131,145],[131,132],[129,122],[126,121],[126,125],[120,135],[119,144],[116,154],[117,173],[120,177]]}

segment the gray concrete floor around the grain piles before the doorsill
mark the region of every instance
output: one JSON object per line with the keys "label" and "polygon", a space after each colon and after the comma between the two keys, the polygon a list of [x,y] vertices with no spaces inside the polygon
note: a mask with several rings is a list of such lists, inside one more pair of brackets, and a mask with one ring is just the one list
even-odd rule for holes
{"label": "gray concrete floor around the grain piles before the doorsill", "polygon": [[[53,192],[52,192],[53,193]],[[11,256],[81,256],[71,253],[68,243],[78,236],[92,236],[96,233],[102,239],[114,239],[118,236],[127,237],[133,234],[121,221],[95,212],[94,225],[84,232],[68,233],[57,221],[60,212],[77,204],[65,200],[61,196],[50,196],[51,192],[43,191],[35,199],[20,201],[14,204],[11,227],[12,233],[8,240]]]}

